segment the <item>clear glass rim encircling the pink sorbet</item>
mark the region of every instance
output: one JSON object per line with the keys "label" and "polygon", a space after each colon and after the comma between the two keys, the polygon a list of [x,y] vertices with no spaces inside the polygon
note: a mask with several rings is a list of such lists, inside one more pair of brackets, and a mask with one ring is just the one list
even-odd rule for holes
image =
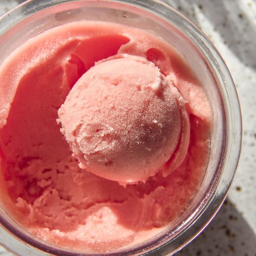
{"label": "clear glass rim encircling the pink sorbet", "polygon": [[[95,2],[95,0],[28,0],[23,4],[18,5],[0,18],[0,23],[3,24],[2,29],[0,28],[0,36],[9,31],[13,26],[17,25],[23,19],[36,13],[38,8],[40,8],[40,11],[42,11],[55,5],[67,4],[70,2]],[[198,234],[207,226],[211,219],[214,218],[215,214],[227,196],[231,181],[236,172],[241,153],[242,120],[237,91],[228,68],[226,67],[223,58],[215,46],[212,45],[207,36],[195,24],[193,24],[188,18],[186,18],[173,7],[159,0],[109,0],[99,2],[120,3],[127,6],[136,6],[137,8],[140,8],[144,11],[152,12],[167,22],[170,22],[171,15],[179,16],[182,18],[183,22],[183,27],[180,29],[182,33],[184,33],[191,41],[194,41],[194,43],[204,53],[204,56],[206,56],[207,59],[210,59],[212,63],[214,63],[214,66],[210,65],[210,67],[215,71],[215,75],[218,77],[218,84],[221,89],[222,100],[225,103],[223,106],[223,112],[226,122],[224,125],[224,134],[226,137],[224,138],[225,143],[223,143],[225,147],[222,148],[223,158],[219,160],[218,164],[218,167],[221,167],[217,168],[221,169],[221,173],[215,174],[217,181],[213,187],[209,187],[207,190],[211,191],[211,193],[205,197],[205,201],[200,207],[195,206],[193,208],[193,210],[199,208],[200,209],[194,211],[194,215],[190,219],[187,219],[187,223],[184,224],[182,230],[178,232],[177,236],[174,236],[172,239],[170,239],[171,231],[169,231],[165,234],[162,234],[153,242],[148,242],[148,244],[146,244],[146,248],[145,245],[142,246],[139,244],[133,246],[133,248],[119,249],[116,252],[102,253],[102,255],[120,255],[120,253],[123,251],[125,251],[127,254],[133,253],[135,255],[140,254],[141,252],[153,254],[156,251],[158,253],[170,253],[168,251],[170,249],[172,249],[172,253],[175,253],[198,236]],[[26,15],[25,13],[20,12],[21,8],[26,8]],[[9,27],[7,25],[9,25]],[[195,38],[200,39],[202,46],[195,42]],[[202,215],[203,217],[200,218]],[[195,223],[197,223],[197,227],[195,227]],[[39,250],[48,253],[56,253],[57,249],[61,255],[81,254],[80,251],[70,251],[60,247],[55,248],[54,245],[44,244],[40,240],[31,238],[17,230],[2,216],[0,216],[0,224],[2,224],[2,226],[7,229],[7,232],[11,232],[18,239],[28,243],[35,248],[38,248]],[[194,228],[191,229],[193,226]],[[2,227],[0,226],[0,228]],[[96,254],[99,255],[101,253]],[[92,253],[84,253],[84,255],[92,255]]]}

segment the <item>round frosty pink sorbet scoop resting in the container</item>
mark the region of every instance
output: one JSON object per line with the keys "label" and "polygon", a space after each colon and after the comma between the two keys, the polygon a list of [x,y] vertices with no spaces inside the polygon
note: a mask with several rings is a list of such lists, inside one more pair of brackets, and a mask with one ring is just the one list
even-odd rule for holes
{"label": "round frosty pink sorbet scoop resting in the container", "polygon": [[152,62],[121,55],[96,63],[76,82],[58,122],[81,168],[120,183],[145,182],[173,155],[186,155],[177,154],[182,104]]}

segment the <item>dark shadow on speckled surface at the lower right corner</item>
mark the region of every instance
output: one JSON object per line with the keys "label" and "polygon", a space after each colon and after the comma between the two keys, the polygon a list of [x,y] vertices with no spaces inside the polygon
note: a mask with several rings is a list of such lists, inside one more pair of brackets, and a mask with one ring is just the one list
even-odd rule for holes
{"label": "dark shadow on speckled surface at the lower right corner", "polygon": [[236,206],[226,199],[199,236],[175,256],[255,256],[256,236]]}

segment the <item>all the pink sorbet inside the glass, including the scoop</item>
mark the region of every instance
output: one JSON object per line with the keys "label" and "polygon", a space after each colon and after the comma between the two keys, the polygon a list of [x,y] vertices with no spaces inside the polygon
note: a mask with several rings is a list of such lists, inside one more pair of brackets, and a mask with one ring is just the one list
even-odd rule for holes
{"label": "all the pink sorbet inside the glass, including the scoop", "polygon": [[86,252],[136,244],[202,181],[212,113],[181,55],[156,35],[76,22],[0,67],[1,202],[39,239]]}

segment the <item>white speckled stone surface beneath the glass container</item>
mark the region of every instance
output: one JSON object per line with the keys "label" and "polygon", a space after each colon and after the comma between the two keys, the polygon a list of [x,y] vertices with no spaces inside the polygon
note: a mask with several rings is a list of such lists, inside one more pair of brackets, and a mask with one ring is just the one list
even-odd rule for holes
{"label": "white speckled stone surface beneath the glass container", "polygon": [[[22,0],[0,0],[0,15]],[[175,255],[256,256],[256,0],[165,0],[212,40],[236,84],[243,147],[228,199],[206,229]],[[1,241],[0,241],[1,242]],[[10,256],[0,246],[1,256]]]}

